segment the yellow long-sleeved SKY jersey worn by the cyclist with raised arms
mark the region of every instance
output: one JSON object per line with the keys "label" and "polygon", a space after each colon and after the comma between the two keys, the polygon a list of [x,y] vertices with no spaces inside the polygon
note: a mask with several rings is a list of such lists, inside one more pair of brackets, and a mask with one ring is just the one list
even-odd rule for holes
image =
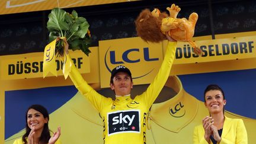
{"label": "yellow long-sleeved SKY jersey worn by the cyclist with raised arms", "polygon": [[[106,144],[140,144],[146,143],[146,122],[148,111],[161,89],[164,87],[171,71],[177,42],[169,42],[161,68],[148,89],[135,99],[130,95],[116,97],[116,100],[98,94],[72,65],[70,78],[94,107],[103,120],[103,140]],[[70,57],[68,56],[70,59]],[[71,60],[72,61],[72,60]]]}

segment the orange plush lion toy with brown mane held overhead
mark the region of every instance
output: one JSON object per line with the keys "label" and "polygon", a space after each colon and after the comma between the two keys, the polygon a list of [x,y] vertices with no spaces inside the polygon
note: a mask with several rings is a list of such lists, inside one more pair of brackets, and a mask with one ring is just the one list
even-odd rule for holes
{"label": "orange plush lion toy with brown mane held overhead", "polygon": [[201,55],[201,50],[191,40],[194,36],[198,15],[193,12],[188,20],[186,18],[177,18],[181,9],[175,4],[172,4],[171,8],[168,7],[167,10],[169,15],[166,12],[160,12],[156,8],[152,12],[149,9],[144,9],[140,12],[135,21],[137,35],[145,41],[158,43],[167,39],[165,36],[167,33],[174,40],[187,41],[193,47],[194,53]]}

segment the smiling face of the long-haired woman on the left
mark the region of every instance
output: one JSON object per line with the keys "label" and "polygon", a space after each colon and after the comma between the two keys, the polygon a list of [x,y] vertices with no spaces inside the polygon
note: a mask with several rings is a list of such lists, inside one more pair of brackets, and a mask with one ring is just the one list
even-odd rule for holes
{"label": "smiling face of the long-haired woman on the left", "polygon": [[30,129],[34,127],[34,130],[43,130],[44,124],[48,122],[47,118],[44,118],[43,114],[39,111],[31,108],[27,113],[27,124]]}

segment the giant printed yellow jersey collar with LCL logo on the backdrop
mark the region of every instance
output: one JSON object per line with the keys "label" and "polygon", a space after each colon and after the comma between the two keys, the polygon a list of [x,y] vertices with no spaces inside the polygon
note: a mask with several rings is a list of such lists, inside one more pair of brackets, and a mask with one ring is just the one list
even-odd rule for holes
{"label": "giant printed yellow jersey collar with LCL logo on the backdrop", "polygon": [[199,104],[196,98],[184,91],[177,76],[170,76],[165,86],[174,89],[177,95],[162,103],[153,104],[150,118],[171,132],[180,132],[194,119]]}

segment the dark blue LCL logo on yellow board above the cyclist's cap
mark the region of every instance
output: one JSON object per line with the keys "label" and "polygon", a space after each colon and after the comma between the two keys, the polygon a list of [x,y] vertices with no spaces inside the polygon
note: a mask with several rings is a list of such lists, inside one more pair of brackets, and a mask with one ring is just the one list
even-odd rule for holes
{"label": "dark blue LCL logo on yellow board above the cyclist's cap", "polygon": [[[129,55],[132,55],[134,53],[143,53],[143,57],[137,57],[137,58],[134,58],[134,59],[131,59],[129,58]],[[109,55],[108,55],[109,54]],[[143,50],[141,49],[128,49],[126,51],[123,52],[123,54],[121,55],[121,57],[117,57],[116,55],[116,51],[114,50],[110,50],[110,47],[107,49],[106,53],[105,53],[105,57],[104,57],[104,61],[105,61],[105,66],[107,68],[107,70],[111,73],[111,69],[110,67],[107,65],[107,56],[110,57],[110,63],[111,65],[121,65],[123,64],[124,62],[125,63],[138,63],[140,62],[140,60],[145,60],[146,62],[152,62],[152,61],[157,61],[159,60],[159,58],[152,58],[152,57],[149,57],[149,48],[148,47],[144,47]],[[121,60],[117,60],[118,59],[121,59]],[[133,79],[136,79],[136,78],[141,78],[143,76],[146,76],[148,75],[149,73],[151,73],[153,71],[153,69],[151,69],[149,72],[145,72],[143,73],[142,75],[140,76],[136,76],[136,77],[133,77]]]}

